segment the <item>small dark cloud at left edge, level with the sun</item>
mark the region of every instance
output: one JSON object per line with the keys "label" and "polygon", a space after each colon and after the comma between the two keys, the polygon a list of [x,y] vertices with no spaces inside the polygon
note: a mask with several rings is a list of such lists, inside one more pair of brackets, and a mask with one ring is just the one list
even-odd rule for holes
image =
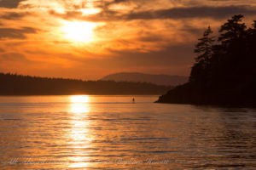
{"label": "small dark cloud at left edge, level with the sun", "polygon": [[36,33],[32,27],[15,28],[0,28],[0,40],[3,38],[9,39],[26,39],[26,34]]}

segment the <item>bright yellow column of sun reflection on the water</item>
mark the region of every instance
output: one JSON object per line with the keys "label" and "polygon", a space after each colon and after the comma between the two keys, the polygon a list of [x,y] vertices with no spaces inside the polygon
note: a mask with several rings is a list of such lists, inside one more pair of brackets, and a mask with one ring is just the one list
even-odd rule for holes
{"label": "bright yellow column of sun reflection on the water", "polygon": [[90,147],[90,120],[88,113],[90,112],[90,97],[87,95],[75,95],[70,97],[71,131],[69,133],[69,144],[73,148],[71,164],[69,167],[88,167],[90,158],[86,149]]}

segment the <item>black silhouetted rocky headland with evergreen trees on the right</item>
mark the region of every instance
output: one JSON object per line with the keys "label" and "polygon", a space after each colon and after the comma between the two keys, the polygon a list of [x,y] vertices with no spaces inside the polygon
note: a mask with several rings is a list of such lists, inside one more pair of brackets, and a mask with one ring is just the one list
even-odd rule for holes
{"label": "black silhouetted rocky headland with evergreen trees on the right", "polygon": [[256,105],[256,20],[247,27],[243,17],[227,20],[218,37],[209,26],[195,45],[189,82],[157,102]]}

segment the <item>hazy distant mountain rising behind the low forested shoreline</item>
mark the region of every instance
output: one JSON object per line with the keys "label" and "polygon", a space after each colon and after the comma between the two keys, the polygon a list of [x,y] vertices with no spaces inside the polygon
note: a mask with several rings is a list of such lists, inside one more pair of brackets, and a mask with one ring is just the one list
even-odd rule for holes
{"label": "hazy distant mountain rising behind the low forested shoreline", "polygon": [[170,75],[151,75],[138,72],[120,72],[102,77],[101,80],[115,82],[150,82],[157,85],[177,86],[189,81],[189,77]]}

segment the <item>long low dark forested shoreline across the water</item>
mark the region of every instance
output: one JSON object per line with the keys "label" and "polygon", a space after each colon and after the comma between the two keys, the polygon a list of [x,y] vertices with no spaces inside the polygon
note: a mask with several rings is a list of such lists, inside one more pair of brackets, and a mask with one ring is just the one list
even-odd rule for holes
{"label": "long low dark forested shoreline across the water", "polygon": [[82,81],[0,73],[0,95],[163,94],[172,87],[147,82]]}

